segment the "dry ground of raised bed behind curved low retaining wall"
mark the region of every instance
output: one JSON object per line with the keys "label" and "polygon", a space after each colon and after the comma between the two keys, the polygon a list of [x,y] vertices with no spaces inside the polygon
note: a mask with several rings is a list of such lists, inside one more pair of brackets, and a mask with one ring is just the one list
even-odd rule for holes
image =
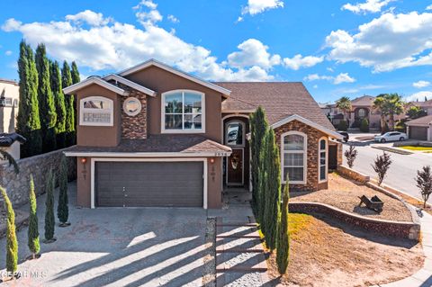
{"label": "dry ground of raised bed behind curved low retaining wall", "polygon": [[[362,195],[371,198],[377,195],[383,202],[383,212],[376,213],[362,205],[358,206]],[[349,211],[381,220],[412,221],[411,213],[403,204],[384,193],[375,191],[365,184],[356,183],[336,173],[329,174],[329,188],[313,193],[291,193],[291,202],[321,202]]]}

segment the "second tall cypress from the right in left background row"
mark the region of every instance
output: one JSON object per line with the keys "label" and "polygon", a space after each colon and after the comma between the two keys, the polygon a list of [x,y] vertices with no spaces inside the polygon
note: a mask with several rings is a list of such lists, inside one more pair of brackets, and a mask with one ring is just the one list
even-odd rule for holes
{"label": "second tall cypress from the right in left background row", "polygon": [[57,121],[55,126],[57,148],[66,147],[66,103],[65,95],[61,89],[62,77],[58,62],[50,62],[49,65],[50,85],[51,91],[54,95],[54,102],[56,103]]}

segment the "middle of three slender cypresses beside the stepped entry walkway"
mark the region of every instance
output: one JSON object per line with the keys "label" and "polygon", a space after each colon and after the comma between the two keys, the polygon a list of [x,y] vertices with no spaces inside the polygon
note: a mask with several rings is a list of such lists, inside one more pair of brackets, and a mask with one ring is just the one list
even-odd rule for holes
{"label": "middle of three slender cypresses beside the stepped entry walkway", "polygon": [[275,144],[275,132],[268,129],[264,147],[263,168],[266,169],[264,222],[266,227],[266,245],[270,250],[276,247],[279,202],[281,201],[281,164],[279,148]]}

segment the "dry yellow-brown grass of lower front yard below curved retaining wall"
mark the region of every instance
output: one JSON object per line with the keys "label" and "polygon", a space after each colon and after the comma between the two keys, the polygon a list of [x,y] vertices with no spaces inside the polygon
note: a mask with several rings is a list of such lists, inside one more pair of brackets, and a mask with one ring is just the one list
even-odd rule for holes
{"label": "dry yellow-brown grass of lower front yard below curved retaining wall", "polygon": [[[423,265],[419,244],[356,230],[329,218],[290,213],[290,265],[280,283],[287,286],[369,286],[414,274]],[[279,276],[275,252],[269,275]],[[275,279],[277,280],[277,279]]]}

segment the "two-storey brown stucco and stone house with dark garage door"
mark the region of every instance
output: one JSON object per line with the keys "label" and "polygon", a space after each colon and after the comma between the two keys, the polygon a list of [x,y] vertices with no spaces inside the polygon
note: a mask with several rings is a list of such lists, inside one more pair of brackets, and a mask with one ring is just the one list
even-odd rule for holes
{"label": "two-storey brown stucco and stone house with dark garage door", "polygon": [[66,155],[77,157],[77,202],[91,208],[220,208],[224,188],[249,188],[259,105],[293,189],[327,187],[329,139],[341,138],[302,83],[211,83],[148,60],[64,92],[79,115]]}

